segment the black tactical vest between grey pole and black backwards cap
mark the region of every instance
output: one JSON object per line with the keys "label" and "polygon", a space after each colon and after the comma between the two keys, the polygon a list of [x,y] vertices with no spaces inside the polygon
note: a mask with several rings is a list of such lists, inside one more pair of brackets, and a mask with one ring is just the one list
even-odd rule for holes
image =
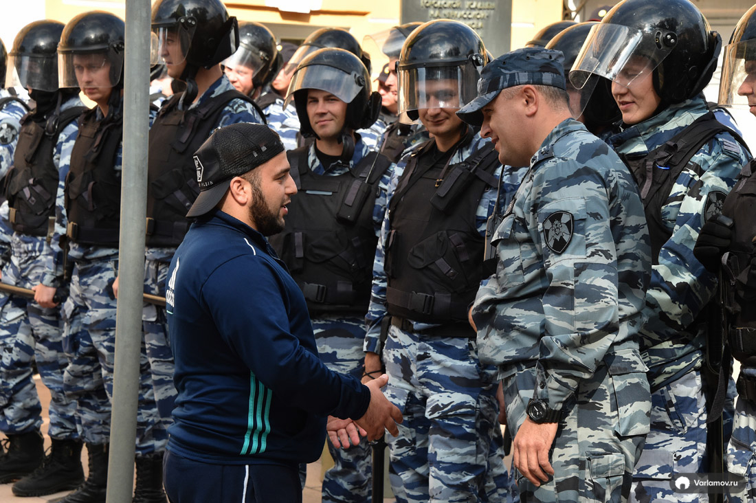
{"label": "black tactical vest between grey pole and black backwards cap", "polygon": [[[178,247],[189,228],[186,214],[200,188],[192,156],[218,124],[225,106],[234,99],[257,105],[231,89],[198,107],[179,110],[181,95],[160,107],[147,153],[147,246]],[[259,111],[259,109],[258,109]],[[263,117],[262,112],[260,116]]]}

